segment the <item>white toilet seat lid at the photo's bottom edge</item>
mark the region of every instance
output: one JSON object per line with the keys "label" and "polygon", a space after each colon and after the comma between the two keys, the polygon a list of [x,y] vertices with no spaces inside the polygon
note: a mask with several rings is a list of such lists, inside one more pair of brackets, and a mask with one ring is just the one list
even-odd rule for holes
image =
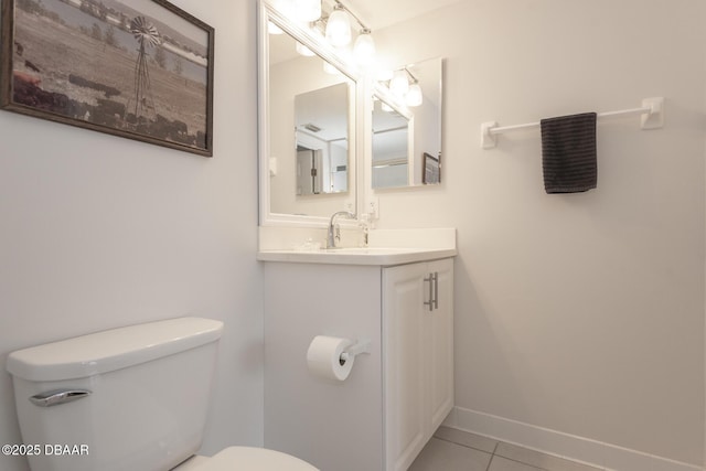
{"label": "white toilet seat lid at the photo's bottom edge", "polygon": [[253,447],[223,449],[194,471],[319,471],[306,461],[275,450]]}

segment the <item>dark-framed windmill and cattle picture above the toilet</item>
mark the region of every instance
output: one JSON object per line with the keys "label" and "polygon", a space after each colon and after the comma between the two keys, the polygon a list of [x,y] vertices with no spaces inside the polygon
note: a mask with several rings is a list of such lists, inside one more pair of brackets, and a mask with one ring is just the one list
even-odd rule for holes
{"label": "dark-framed windmill and cattle picture above the toilet", "polygon": [[213,156],[213,28],[164,0],[0,1],[0,108]]}

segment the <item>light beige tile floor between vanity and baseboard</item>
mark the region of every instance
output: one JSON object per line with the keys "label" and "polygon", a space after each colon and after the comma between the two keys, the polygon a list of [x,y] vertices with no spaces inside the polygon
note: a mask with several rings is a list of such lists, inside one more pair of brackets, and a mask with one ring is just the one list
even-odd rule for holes
{"label": "light beige tile floor between vanity and baseboard", "polygon": [[409,471],[601,471],[527,448],[440,427]]}

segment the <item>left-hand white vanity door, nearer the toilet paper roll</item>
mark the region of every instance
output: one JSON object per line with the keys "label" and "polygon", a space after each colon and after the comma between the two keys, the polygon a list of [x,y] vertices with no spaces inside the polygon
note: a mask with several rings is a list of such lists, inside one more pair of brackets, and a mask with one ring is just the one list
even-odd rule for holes
{"label": "left-hand white vanity door, nearer the toilet paper roll", "polygon": [[387,471],[405,471],[424,448],[428,407],[425,381],[424,302],[427,264],[383,270],[383,375],[385,462]]}

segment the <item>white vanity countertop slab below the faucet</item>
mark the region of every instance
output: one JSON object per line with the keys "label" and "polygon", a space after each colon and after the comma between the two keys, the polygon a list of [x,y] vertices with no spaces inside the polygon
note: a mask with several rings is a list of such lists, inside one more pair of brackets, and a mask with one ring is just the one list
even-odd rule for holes
{"label": "white vanity countertop slab below the faucet", "polygon": [[257,259],[261,261],[289,261],[299,264],[392,266],[437,260],[456,255],[456,248],[361,247],[319,250],[259,250],[257,253]]}

